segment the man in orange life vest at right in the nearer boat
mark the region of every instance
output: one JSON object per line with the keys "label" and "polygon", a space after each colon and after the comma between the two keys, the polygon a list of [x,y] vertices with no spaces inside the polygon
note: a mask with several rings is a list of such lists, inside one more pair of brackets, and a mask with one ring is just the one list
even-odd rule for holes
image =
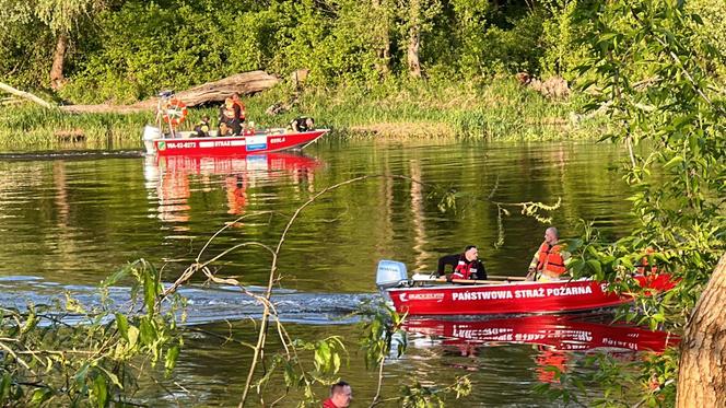
{"label": "man in orange life vest at right in the nearer boat", "polygon": [[567,271],[570,253],[564,250],[560,242],[560,232],[554,226],[544,231],[544,242],[529,264],[527,280],[553,281],[559,280]]}

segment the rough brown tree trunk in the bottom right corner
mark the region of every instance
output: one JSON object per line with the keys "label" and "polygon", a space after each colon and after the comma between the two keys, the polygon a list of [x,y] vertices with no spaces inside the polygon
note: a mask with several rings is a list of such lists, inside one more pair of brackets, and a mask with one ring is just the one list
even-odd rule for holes
{"label": "rough brown tree trunk in the bottom right corner", "polygon": [[695,304],[681,342],[676,405],[726,407],[726,254]]}

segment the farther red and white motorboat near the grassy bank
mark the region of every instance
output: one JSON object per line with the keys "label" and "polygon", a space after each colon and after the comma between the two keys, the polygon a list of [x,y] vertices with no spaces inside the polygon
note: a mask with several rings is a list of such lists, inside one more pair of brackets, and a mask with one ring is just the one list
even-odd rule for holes
{"label": "farther red and white motorboat near the grassy bank", "polygon": [[197,138],[192,132],[177,132],[177,138],[161,137],[159,128],[147,126],[143,132],[148,154],[241,156],[303,149],[327,133],[329,129],[293,132],[286,129],[268,129],[249,136]]}

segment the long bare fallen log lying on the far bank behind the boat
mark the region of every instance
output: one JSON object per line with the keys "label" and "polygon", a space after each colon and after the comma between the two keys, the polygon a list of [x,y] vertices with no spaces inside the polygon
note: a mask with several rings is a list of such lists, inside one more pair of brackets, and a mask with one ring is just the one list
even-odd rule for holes
{"label": "long bare fallen log lying on the far bank behind the boat", "polygon": [[[243,72],[177,92],[176,97],[184,101],[187,106],[198,106],[223,102],[235,92],[239,95],[255,94],[274,86],[280,80],[277,77],[265,71]],[[60,106],[60,109],[72,114],[132,114],[153,110],[156,102],[154,97],[133,105],[68,105]]]}

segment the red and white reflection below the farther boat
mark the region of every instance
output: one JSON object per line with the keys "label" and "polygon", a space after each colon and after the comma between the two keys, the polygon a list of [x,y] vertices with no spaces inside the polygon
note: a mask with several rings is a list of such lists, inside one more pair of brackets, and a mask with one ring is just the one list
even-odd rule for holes
{"label": "red and white reflection below the farther boat", "polygon": [[293,153],[268,153],[244,158],[148,156],[147,188],[155,191],[157,218],[173,223],[175,231],[189,231],[192,183],[203,193],[221,186],[226,195],[226,213],[242,215],[248,189],[288,175],[297,190],[315,189],[316,159]]}

